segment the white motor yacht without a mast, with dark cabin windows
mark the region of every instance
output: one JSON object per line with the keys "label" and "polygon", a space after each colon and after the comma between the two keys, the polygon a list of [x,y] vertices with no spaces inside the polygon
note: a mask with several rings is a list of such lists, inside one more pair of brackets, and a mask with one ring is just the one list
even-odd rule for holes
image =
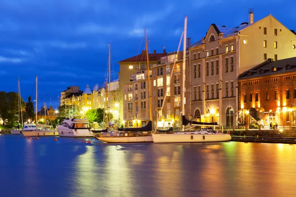
{"label": "white motor yacht without a mast, with dark cabin windows", "polygon": [[61,137],[93,137],[88,119],[84,115],[73,115],[57,128]]}

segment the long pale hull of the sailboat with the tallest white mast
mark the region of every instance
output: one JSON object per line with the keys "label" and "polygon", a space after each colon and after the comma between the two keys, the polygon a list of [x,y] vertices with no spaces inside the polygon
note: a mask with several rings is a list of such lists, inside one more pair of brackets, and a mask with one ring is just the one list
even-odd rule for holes
{"label": "long pale hull of the sailboat with the tallest white mast", "polygon": [[153,134],[154,143],[223,142],[231,140],[229,134]]}

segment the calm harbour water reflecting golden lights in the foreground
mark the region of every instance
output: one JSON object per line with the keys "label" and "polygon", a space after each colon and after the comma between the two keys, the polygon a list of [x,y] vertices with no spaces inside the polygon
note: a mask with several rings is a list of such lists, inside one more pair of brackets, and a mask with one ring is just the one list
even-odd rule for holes
{"label": "calm harbour water reflecting golden lights in the foreground", "polygon": [[91,141],[0,135],[0,196],[296,196],[296,145]]}

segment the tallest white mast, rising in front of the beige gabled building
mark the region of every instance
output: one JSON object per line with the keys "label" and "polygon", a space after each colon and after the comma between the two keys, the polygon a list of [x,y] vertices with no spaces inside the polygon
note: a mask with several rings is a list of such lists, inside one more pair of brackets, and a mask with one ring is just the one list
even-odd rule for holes
{"label": "tallest white mast, rising in front of the beige gabled building", "polygon": [[[182,76],[182,116],[185,115],[185,66],[186,66],[186,33],[187,33],[187,16],[185,17],[184,23],[184,38],[183,38],[183,76]],[[180,117],[181,119],[181,117]],[[182,123],[182,131],[185,131],[185,126]]]}

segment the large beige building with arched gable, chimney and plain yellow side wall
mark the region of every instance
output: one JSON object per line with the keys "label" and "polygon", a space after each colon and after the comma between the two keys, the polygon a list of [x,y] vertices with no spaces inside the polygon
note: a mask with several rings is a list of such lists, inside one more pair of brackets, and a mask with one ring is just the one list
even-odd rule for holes
{"label": "large beige building with arched gable, chimney and plain yellow side wall", "polygon": [[194,120],[238,125],[239,74],[267,60],[294,57],[296,34],[272,15],[235,28],[212,24],[206,36],[190,46],[191,114]]}

